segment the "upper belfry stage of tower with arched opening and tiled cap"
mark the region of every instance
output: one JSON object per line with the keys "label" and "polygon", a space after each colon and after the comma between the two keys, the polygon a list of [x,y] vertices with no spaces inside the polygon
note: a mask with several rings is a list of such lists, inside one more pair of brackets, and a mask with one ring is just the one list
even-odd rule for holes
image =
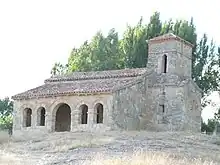
{"label": "upper belfry stage of tower with arched opening and tiled cap", "polygon": [[191,77],[191,43],[168,33],[150,39],[148,44],[148,68],[154,69],[157,74]]}

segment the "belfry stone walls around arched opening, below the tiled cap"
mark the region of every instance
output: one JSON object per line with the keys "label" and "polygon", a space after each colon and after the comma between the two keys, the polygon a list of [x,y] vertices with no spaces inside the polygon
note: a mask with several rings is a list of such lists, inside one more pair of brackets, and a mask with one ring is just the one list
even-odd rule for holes
{"label": "belfry stone walls around arched opening, below the tiled cap", "polygon": [[149,45],[147,68],[161,73],[162,57],[167,55],[167,72],[191,77],[192,48],[180,41],[170,40]]}

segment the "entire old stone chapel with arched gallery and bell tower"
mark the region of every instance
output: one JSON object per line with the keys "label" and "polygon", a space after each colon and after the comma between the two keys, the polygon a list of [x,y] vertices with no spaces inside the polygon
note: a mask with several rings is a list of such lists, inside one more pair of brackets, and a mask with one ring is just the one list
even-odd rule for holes
{"label": "entire old stone chapel with arched gallery and bell tower", "polygon": [[147,41],[145,68],[74,72],[12,96],[13,135],[64,131],[200,131],[193,45],[168,33]]}

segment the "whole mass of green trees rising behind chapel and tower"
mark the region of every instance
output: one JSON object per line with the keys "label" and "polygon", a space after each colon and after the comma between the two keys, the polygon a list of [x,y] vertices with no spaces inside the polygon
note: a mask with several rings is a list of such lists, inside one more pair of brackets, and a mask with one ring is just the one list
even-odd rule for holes
{"label": "whole mass of green trees rising behind chapel and tower", "polygon": [[[194,45],[192,53],[192,78],[202,89],[203,103],[207,95],[219,90],[220,48],[206,34],[197,38],[193,18],[190,21],[172,19],[160,20],[160,13],[155,12],[144,24],[143,18],[135,25],[127,25],[119,39],[115,29],[110,29],[105,36],[97,32],[91,41],[85,41],[79,48],[74,48],[68,64],[55,64],[52,75],[74,71],[98,71],[122,68],[145,67],[148,58],[147,40],[172,32]],[[205,106],[205,104],[204,104]]]}

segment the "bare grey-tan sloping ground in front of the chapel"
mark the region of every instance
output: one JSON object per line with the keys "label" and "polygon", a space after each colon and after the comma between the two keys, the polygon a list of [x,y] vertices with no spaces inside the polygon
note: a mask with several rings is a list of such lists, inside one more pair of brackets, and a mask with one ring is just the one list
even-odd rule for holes
{"label": "bare grey-tan sloping ground in front of the chapel", "polygon": [[91,160],[159,152],[220,164],[220,136],[189,132],[53,133],[0,144],[0,165],[83,165]]}

